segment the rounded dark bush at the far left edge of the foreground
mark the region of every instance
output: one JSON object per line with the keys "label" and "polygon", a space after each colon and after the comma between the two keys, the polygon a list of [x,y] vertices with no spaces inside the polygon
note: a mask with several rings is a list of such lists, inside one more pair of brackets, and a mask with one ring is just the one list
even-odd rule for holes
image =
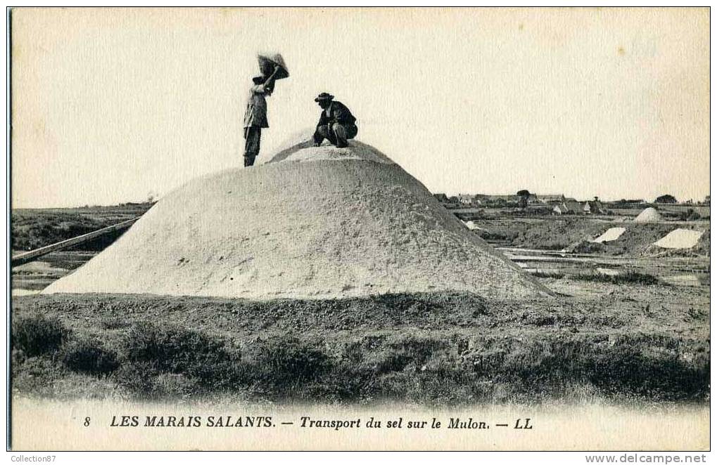
{"label": "rounded dark bush at the far left edge of the foreground", "polygon": [[28,357],[56,351],[69,331],[57,317],[42,314],[15,318],[12,322],[12,346]]}

